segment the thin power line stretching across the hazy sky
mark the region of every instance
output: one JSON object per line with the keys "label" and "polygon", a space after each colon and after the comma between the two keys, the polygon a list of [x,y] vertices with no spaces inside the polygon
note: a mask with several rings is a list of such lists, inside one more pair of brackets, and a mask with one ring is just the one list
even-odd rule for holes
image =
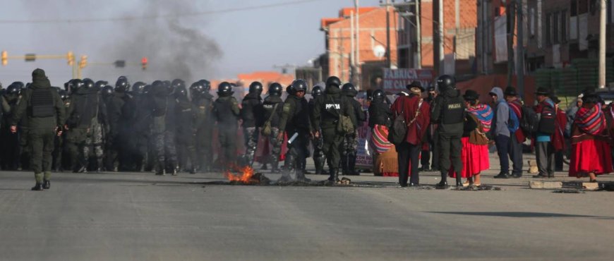
{"label": "thin power line stretching across the hazy sky", "polygon": [[125,16],[115,18],[77,18],[77,19],[42,19],[42,20],[0,20],[0,24],[8,23],[95,23],[95,22],[121,22],[121,21],[134,21],[134,20],[155,20],[159,18],[179,18],[186,16],[203,16],[203,15],[215,15],[219,13],[234,13],[239,11],[252,11],[265,8],[274,8],[279,6],[294,6],[297,4],[306,4],[316,1],[324,0],[296,0],[288,1],[277,4],[264,4],[260,6],[243,6],[236,8],[227,8],[212,11],[203,11],[195,13],[171,13],[166,15],[153,15],[153,16]]}

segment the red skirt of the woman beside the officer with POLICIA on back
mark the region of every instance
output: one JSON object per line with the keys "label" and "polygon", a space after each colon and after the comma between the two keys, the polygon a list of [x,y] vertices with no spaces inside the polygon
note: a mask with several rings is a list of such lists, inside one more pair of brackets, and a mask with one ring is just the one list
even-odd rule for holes
{"label": "red skirt of the woman beside the officer with POLICIA on back", "polygon": [[[471,178],[481,171],[490,169],[490,160],[488,159],[488,145],[475,145],[469,142],[469,137],[463,137],[461,160],[463,162],[462,177]],[[452,166],[448,176],[456,178]]]}

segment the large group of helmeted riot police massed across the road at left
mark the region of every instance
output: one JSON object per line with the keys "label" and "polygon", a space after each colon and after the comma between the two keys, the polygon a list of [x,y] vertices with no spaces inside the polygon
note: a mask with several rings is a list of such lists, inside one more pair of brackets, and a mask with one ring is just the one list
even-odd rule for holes
{"label": "large group of helmeted riot police massed across the road at left", "polygon": [[[216,98],[208,80],[188,87],[180,79],[131,84],[121,76],[114,86],[85,78],[69,80],[62,89],[52,87],[37,69],[32,83],[15,82],[1,91],[0,167],[35,171],[34,190],[49,188],[52,169],[195,174],[253,166],[262,135],[270,152],[260,153],[264,158],[258,161],[263,169],[270,165],[272,172],[281,172],[284,181],[308,181],[310,142],[316,174],[328,174],[333,182],[339,181],[339,169],[357,174],[356,130],[366,114],[354,99],[354,85],[330,77],[325,86],[312,88],[308,101],[305,80],[287,86],[285,100],[279,83],[270,84],[263,99],[263,84],[254,82],[241,103],[234,97],[235,86],[220,83]],[[351,128],[342,130],[340,121]],[[236,146],[239,128],[246,145],[241,156]],[[287,153],[280,157],[284,142]],[[324,170],[326,159],[329,171]]]}

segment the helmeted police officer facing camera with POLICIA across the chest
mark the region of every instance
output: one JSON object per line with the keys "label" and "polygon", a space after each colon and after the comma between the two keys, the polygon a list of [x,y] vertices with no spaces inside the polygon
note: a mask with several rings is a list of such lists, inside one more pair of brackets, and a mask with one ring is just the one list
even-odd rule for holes
{"label": "helmeted police officer facing camera with POLICIA across the chest", "polygon": [[349,116],[354,125],[357,124],[354,107],[347,97],[342,95],[341,80],[336,76],[331,76],[326,80],[325,95],[320,95],[315,99],[313,108],[313,129],[320,130],[315,132],[315,137],[322,135],[324,139],[323,151],[328,160],[330,177],[328,181],[339,181],[339,160],[343,150],[342,142],[344,134],[337,131],[337,123],[340,117]]}

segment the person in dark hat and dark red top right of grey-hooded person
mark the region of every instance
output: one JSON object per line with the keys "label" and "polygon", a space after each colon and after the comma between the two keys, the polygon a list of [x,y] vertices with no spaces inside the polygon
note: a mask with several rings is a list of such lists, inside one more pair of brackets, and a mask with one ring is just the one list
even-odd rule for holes
{"label": "person in dark hat and dark red top right of grey-hooded person", "polygon": [[[508,86],[505,88],[505,101],[510,109],[516,114],[518,121],[522,117],[522,101],[518,98],[516,88]],[[526,136],[521,129],[510,133],[510,159],[512,160],[512,178],[522,177],[522,143],[526,140]]]}

